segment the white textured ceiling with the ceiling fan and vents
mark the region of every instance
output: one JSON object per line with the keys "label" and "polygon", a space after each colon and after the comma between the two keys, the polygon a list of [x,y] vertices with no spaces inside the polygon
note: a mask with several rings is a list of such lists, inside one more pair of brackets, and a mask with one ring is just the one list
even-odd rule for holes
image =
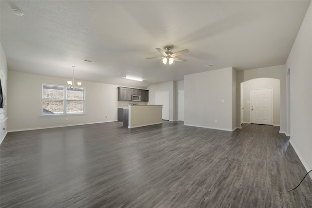
{"label": "white textured ceiling with the ceiling fan and vents", "polygon": [[[77,80],[146,88],[226,67],[285,64],[310,2],[1,0],[0,40],[8,70],[70,79],[75,65]],[[187,61],[167,70],[161,59],[145,59],[167,45],[188,49],[180,56]]]}

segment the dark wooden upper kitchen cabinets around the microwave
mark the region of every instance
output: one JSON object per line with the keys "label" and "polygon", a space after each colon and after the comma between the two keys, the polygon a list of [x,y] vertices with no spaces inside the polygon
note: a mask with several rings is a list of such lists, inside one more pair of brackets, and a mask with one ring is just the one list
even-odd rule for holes
{"label": "dark wooden upper kitchen cabinets around the microwave", "polygon": [[118,101],[132,101],[132,95],[141,95],[141,101],[148,102],[148,90],[118,87]]}

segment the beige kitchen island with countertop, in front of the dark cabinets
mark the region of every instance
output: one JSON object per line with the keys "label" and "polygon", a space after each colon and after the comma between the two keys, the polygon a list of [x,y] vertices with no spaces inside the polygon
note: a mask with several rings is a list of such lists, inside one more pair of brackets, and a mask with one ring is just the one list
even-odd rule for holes
{"label": "beige kitchen island with countertop, in front of the dark cabinets", "polygon": [[162,105],[132,104],[123,112],[123,125],[129,129],[162,123]]}

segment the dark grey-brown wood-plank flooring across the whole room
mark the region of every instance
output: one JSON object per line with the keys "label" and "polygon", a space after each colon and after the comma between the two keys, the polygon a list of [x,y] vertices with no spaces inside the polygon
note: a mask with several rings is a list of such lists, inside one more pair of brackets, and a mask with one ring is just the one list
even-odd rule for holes
{"label": "dark grey-brown wood-plank flooring across the whole room", "polygon": [[9,132],[1,208],[311,208],[312,180],[279,127],[164,121]]}

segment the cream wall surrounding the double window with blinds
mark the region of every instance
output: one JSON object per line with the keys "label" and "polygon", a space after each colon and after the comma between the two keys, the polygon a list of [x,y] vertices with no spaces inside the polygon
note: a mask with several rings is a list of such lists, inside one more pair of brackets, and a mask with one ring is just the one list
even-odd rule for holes
{"label": "cream wall surrounding the double window with blinds", "polygon": [[40,116],[42,83],[66,85],[66,81],[66,78],[8,71],[8,130],[117,121],[118,86],[83,80],[82,87],[86,89],[85,115]]}

